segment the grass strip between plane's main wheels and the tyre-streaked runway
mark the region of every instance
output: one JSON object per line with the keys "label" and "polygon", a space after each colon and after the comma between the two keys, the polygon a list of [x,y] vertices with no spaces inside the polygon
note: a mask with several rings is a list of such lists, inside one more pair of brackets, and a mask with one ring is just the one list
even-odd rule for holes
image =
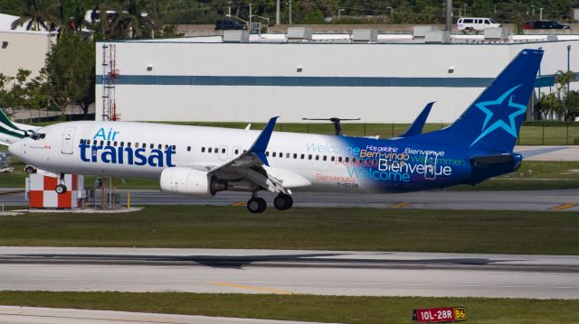
{"label": "grass strip between plane's main wheels and the tyre-streaked runway", "polygon": [[579,212],[151,206],[3,217],[0,245],[579,255]]}

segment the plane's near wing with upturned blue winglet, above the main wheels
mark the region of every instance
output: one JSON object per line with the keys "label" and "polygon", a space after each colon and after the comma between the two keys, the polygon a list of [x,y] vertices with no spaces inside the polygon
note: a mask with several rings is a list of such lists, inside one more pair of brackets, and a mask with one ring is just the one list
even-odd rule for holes
{"label": "plane's near wing with upturned blue winglet, above the main wheels", "polygon": [[290,194],[291,188],[308,187],[311,182],[299,174],[270,167],[265,154],[271,133],[278,117],[272,117],[252,147],[239,157],[209,170],[217,178],[232,179],[235,176],[271,192]]}

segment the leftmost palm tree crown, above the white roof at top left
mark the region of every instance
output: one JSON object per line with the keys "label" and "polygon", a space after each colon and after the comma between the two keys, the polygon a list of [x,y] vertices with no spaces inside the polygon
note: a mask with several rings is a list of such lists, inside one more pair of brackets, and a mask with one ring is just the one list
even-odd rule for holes
{"label": "leftmost palm tree crown, above the white roof at top left", "polygon": [[[54,13],[54,5],[50,0],[26,0],[26,13],[12,23],[11,28],[26,24],[26,30],[40,31],[43,27],[46,31],[53,31],[59,24]],[[47,26],[47,23],[50,23]]]}

